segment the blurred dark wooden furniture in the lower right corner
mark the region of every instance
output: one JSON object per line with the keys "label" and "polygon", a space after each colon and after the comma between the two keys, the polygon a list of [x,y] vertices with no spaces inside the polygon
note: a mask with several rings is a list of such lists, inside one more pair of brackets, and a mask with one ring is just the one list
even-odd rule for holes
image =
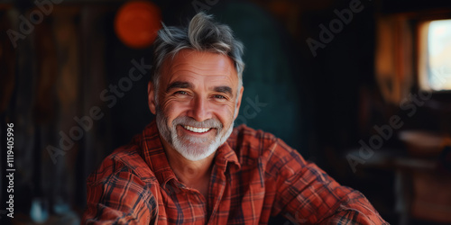
{"label": "blurred dark wooden furniture in the lower right corner", "polygon": [[[451,223],[451,171],[440,165],[441,150],[435,149],[443,149],[443,144],[449,143],[445,137],[440,141],[437,137],[421,137],[424,133],[421,131],[407,135],[412,139],[401,138],[406,142],[407,154],[400,149],[381,148],[359,165],[394,172],[395,211],[400,215],[400,225],[411,224],[412,220]],[[429,140],[436,144],[427,143]],[[358,156],[359,151],[354,150],[349,154]]]}

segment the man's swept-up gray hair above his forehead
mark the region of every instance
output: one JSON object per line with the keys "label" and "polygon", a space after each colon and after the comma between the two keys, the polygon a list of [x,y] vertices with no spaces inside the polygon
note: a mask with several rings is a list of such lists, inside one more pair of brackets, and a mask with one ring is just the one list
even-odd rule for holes
{"label": "man's swept-up gray hair above his forehead", "polygon": [[163,61],[169,57],[174,58],[181,49],[195,49],[228,56],[234,61],[238,86],[243,85],[243,43],[234,38],[229,26],[216,23],[211,15],[198,13],[191,19],[188,27],[167,27],[163,24],[163,28],[158,31],[154,42],[151,77],[155,88],[158,88]]}

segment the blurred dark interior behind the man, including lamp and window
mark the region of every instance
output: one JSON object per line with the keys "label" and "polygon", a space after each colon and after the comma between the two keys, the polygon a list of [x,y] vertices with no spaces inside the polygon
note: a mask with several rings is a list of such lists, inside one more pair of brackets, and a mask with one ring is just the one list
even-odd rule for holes
{"label": "blurred dark interior behind the man, including lamp and window", "polygon": [[78,224],[87,175],[153,119],[160,21],[186,24],[200,10],[244,42],[236,124],[285,140],[391,224],[451,224],[446,0],[2,1],[2,224],[11,221],[6,125],[12,222]]}

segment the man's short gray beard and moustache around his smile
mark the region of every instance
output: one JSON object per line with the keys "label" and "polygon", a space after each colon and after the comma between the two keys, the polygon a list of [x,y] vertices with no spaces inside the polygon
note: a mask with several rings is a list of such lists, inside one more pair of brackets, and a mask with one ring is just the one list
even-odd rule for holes
{"label": "man's short gray beard and moustache around his smile", "polygon": [[[224,130],[223,124],[216,119],[195,121],[194,119],[186,116],[176,118],[172,121],[171,126],[168,127],[168,118],[164,116],[164,113],[161,111],[160,107],[157,107],[156,111],[156,122],[161,137],[166,140],[172,148],[177,150],[180,155],[190,161],[198,161],[215,153],[216,149],[226,142],[234,130],[234,122],[230,124],[227,130]],[[213,140],[208,140],[208,138],[179,137],[177,133],[178,125],[215,128],[216,137]],[[207,141],[210,143],[207,143]],[[207,146],[205,146],[206,143]]]}

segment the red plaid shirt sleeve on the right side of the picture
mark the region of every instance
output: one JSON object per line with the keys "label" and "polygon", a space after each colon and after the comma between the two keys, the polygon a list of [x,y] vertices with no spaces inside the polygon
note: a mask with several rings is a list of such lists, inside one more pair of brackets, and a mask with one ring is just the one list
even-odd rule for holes
{"label": "red plaid shirt sleeve on the right side of the picture", "polygon": [[280,167],[273,212],[299,224],[388,224],[364,194],[338,184],[280,139],[272,149]]}

